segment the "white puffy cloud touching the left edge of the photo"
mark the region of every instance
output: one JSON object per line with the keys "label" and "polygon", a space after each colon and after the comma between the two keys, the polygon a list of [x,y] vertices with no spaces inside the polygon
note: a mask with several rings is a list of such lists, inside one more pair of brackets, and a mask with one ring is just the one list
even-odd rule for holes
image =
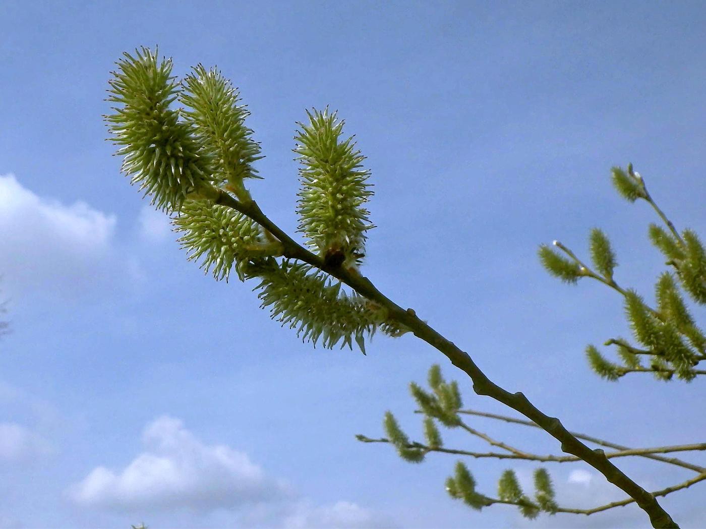
{"label": "white puffy cloud touching the left edge of the photo", "polygon": [[0,176],[3,289],[81,290],[115,264],[116,218],[77,201],[67,206]]}

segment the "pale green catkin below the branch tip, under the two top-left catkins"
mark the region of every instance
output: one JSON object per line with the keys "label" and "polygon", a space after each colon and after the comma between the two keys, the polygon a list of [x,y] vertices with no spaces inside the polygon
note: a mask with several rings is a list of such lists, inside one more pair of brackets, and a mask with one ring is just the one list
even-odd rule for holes
{"label": "pale green catkin below the branch tip, under the two top-left catkins", "polygon": [[172,223],[176,232],[184,233],[179,242],[189,252],[189,260],[201,259],[201,268],[205,273],[212,270],[216,280],[227,281],[235,267],[244,281],[246,276],[238,264],[262,258],[255,251],[264,242],[261,227],[231,208],[188,200]]}

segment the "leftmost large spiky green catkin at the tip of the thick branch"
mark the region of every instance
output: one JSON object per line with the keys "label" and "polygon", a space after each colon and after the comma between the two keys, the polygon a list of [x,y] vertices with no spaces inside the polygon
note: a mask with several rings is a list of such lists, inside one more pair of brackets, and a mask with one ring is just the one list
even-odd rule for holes
{"label": "leftmost large spiky green catkin at the tip of the thick branch", "polygon": [[152,205],[178,210],[187,194],[210,186],[213,158],[193,137],[191,125],[179,121],[179,110],[169,105],[177,99],[172,59],[157,60],[157,51],[141,48],[127,52],[109,81],[108,101],[115,114],[105,117],[116,145],[124,156],[121,170],[131,184],[152,196]]}

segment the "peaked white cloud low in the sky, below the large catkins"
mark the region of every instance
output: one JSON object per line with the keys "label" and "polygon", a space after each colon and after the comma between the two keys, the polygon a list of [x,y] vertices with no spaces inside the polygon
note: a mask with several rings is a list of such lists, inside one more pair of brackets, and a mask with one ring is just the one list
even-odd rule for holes
{"label": "peaked white cloud low in the sky, below the large catkins", "polygon": [[148,448],[119,472],[102,466],[69,490],[77,504],[132,511],[188,506],[232,509],[285,497],[284,485],[265,477],[246,454],[207,446],[180,420],[163,416],[142,436]]}

